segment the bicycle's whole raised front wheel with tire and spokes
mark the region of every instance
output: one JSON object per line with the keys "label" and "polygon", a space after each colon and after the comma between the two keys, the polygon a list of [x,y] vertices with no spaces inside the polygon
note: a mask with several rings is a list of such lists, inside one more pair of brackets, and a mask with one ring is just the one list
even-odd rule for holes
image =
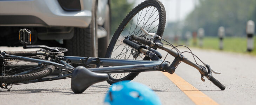
{"label": "bicycle's whole raised front wheel with tire and spokes", "polygon": [[[149,60],[148,57],[130,48],[122,41],[126,36],[140,36],[147,38],[142,34],[140,27],[146,29],[149,33],[163,35],[166,22],[166,12],[162,3],[158,0],[147,0],[136,6],[116,29],[107,49],[106,58],[116,59],[136,59]],[[113,84],[121,80],[132,80],[140,72],[112,73],[109,74],[107,82]]]}

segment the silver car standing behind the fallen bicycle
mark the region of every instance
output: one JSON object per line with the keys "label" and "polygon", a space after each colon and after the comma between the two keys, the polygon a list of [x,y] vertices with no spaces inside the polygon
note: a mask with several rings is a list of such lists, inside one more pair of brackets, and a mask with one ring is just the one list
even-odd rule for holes
{"label": "silver car standing behind the fallen bicycle", "polygon": [[18,30],[28,28],[34,44],[58,41],[67,55],[97,57],[99,49],[104,57],[109,17],[109,0],[0,0],[0,45],[19,45]]}

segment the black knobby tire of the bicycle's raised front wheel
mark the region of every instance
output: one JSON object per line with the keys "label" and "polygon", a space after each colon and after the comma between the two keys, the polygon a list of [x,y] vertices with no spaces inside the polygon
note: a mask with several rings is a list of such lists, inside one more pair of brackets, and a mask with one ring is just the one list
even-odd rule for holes
{"label": "black knobby tire of the bicycle's raised front wheel", "polygon": [[[150,8],[149,8],[150,7]],[[154,9],[152,10],[152,12],[151,12],[151,14],[154,12],[154,10],[155,10],[155,8],[156,8],[156,11],[159,13],[158,14],[158,17],[159,17],[159,19],[157,19],[158,20],[158,23],[156,22],[156,24],[157,24],[157,31],[151,31],[151,30],[153,30],[153,29],[151,29],[151,30],[149,30],[149,28],[151,27],[151,25],[155,22],[155,20],[153,20],[153,22],[151,23],[151,25],[150,25],[150,27],[148,27],[148,26],[146,26],[147,25],[147,22],[149,21],[149,19],[150,19],[150,16],[151,16],[151,14],[150,14],[150,16],[149,16],[149,18],[148,18],[148,20],[146,21],[146,23],[144,24],[144,22],[145,22],[145,19],[146,19],[146,15],[147,15],[147,13],[150,11],[150,9],[151,9],[151,7],[154,7]],[[128,23],[130,23],[130,30],[131,30],[131,28],[133,28],[133,20],[134,20],[134,17],[137,15],[137,24],[136,24],[136,27],[135,27],[135,29],[134,29],[134,31],[132,31],[132,33],[130,33],[130,31],[129,31],[129,36],[130,35],[134,35],[134,34],[138,34],[138,33],[140,33],[139,35],[141,35],[140,37],[146,37],[146,36],[143,36],[142,34],[141,34],[141,31],[139,31],[139,32],[136,32],[135,33],[135,31],[136,31],[136,29],[138,28],[138,30],[140,30],[139,28],[140,27],[138,27],[139,25],[140,25],[140,23],[141,22],[139,22],[140,21],[140,18],[141,18],[141,14],[143,14],[143,10],[144,9],[146,9],[146,14],[145,14],[145,16],[143,16],[143,18],[144,18],[144,21],[143,21],[143,24],[142,24],[142,27],[143,28],[147,28],[148,27],[148,29],[146,29],[147,31],[149,31],[149,32],[151,32],[151,33],[156,33],[157,35],[159,35],[159,36],[162,36],[163,35],[163,31],[164,31],[164,27],[165,27],[165,23],[166,23],[166,12],[165,12],[165,9],[164,9],[164,6],[163,6],[163,4],[160,2],[160,1],[158,1],[158,0],[146,0],[146,1],[144,1],[144,2],[142,2],[142,3],[140,3],[139,5],[137,5],[132,11],[130,11],[130,13],[126,16],[126,18],[124,18],[123,19],[123,21],[121,22],[121,24],[119,25],[119,27],[116,29],[116,31],[115,31],[115,34],[113,35],[113,37],[112,37],[112,39],[111,39],[111,41],[110,41],[110,43],[109,43],[109,45],[108,45],[108,49],[107,49],[107,53],[106,53],[106,58],[111,58],[111,56],[112,56],[112,53],[113,53],[113,50],[114,50],[114,47],[116,46],[116,43],[117,43],[117,41],[118,41],[118,39],[120,38],[120,36],[123,36],[123,35],[121,35],[122,34],[122,32],[124,31],[124,29],[126,29],[127,31],[128,31],[128,29],[126,28],[126,26],[128,25],[129,26],[129,24]],[[148,11],[147,11],[148,10]],[[141,12],[141,14],[140,14],[140,12]],[[140,14],[140,18],[139,18],[139,14]],[[155,13],[154,13],[155,14]],[[153,14],[153,15],[154,15]],[[153,17],[153,15],[151,16],[151,17]],[[139,21],[138,21],[138,18],[139,18]],[[142,18],[142,20],[143,20],[143,18]],[[156,16],[156,18],[157,18],[157,16]],[[156,19],[155,18],[155,19]],[[132,20],[132,23],[130,22]],[[142,21],[141,20],[141,21]],[[156,21],[157,21],[156,20]],[[138,24],[138,22],[139,22],[139,24]],[[129,28],[129,27],[128,27]],[[155,30],[155,29],[154,29]],[[133,33],[134,32],[134,33]],[[135,35],[135,36],[136,36]],[[124,36],[123,36],[124,37]],[[119,40],[120,41],[120,40]],[[122,41],[121,41],[122,42]],[[120,43],[121,43],[120,42]],[[122,43],[121,43],[122,44]],[[120,44],[120,45],[121,45]],[[118,46],[118,47],[120,47],[120,45]],[[123,47],[123,49],[126,47],[126,49],[128,48],[127,46],[125,46],[124,45],[124,47]],[[117,48],[116,48],[117,49]],[[115,50],[116,50],[115,49]],[[122,50],[123,51],[123,50]],[[133,50],[132,50],[133,51]],[[131,53],[133,53],[131,51]],[[122,53],[122,52],[121,52]],[[120,53],[120,54],[121,54]],[[134,55],[134,54],[133,54]],[[135,54],[136,55],[136,54]],[[126,55],[125,55],[126,56]],[[136,55],[137,56],[137,55]],[[135,56],[135,57],[136,57]],[[129,55],[129,57],[130,57],[130,55]],[[128,59],[129,59],[129,57],[128,57]],[[138,57],[138,56],[137,56]],[[136,57],[136,58],[137,58]],[[122,58],[122,57],[121,57]],[[124,59],[126,59],[126,57],[124,57]],[[144,57],[143,58],[143,60],[149,60],[149,58],[148,57]],[[122,78],[121,78],[121,76],[122,76],[122,73],[121,73],[121,76],[120,76],[120,78],[119,79],[116,79],[117,78],[117,76],[118,76],[118,74],[117,74],[117,76],[116,76],[116,78],[114,78],[115,77],[115,75],[112,77],[111,76],[111,74],[109,74],[109,79],[107,80],[107,82],[109,83],[109,84],[113,84],[113,83],[115,83],[115,82],[119,82],[119,81],[121,81],[121,80],[132,80],[132,79],[134,79],[137,75],[139,75],[139,73],[140,72],[132,72],[132,73],[129,73],[128,75],[126,75],[126,76],[123,76]]]}

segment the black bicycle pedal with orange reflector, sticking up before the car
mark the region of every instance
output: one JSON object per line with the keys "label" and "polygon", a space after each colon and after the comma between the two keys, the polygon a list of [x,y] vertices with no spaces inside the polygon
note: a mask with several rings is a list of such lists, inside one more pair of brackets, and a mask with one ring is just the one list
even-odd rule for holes
{"label": "black bicycle pedal with orange reflector, sticking up before the car", "polygon": [[31,31],[26,28],[20,29],[19,40],[23,45],[31,44]]}

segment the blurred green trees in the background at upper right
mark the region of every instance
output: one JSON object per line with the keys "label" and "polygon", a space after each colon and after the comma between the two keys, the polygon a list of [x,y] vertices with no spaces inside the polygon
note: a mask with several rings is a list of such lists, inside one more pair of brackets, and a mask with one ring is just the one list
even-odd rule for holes
{"label": "blurred green trees in the background at upper right", "polygon": [[200,0],[183,31],[202,27],[206,35],[217,36],[218,27],[223,26],[227,36],[245,36],[246,22],[256,20],[255,4],[256,0]]}

